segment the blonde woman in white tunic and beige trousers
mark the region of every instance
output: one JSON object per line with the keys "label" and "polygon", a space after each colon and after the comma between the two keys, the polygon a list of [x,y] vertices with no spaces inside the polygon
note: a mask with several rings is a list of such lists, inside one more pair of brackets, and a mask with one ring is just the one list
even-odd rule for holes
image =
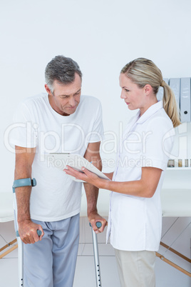
{"label": "blonde woman in white tunic and beige trousers", "polygon": [[[156,94],[162,86],[162,101]],[[69,175],[108,189],[108,233],[115,248],[122,287],[155,286],[155,251],[160,244],[162,214],[160,189],[172,150],[174,127],[180,124],[175,96],[160,69],[148,59],[135,59],[120,72],[121,99],[139,109],[128,124],[118,148],[110,181],[83,168]]]}

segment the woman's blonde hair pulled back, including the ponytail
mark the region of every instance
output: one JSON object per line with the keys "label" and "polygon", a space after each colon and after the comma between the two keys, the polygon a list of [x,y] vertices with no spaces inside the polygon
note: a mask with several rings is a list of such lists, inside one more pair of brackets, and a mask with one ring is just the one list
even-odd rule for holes
{"label": "woman's blonde hair pulled back, including the ponytail", "polygon": [[162,86],[163,108],[170,117],[174,127],[181,124],[175,95],[172,89],[170,89],[170,86],[163,81],[162,73],[153,61],[145,58],[135,59],[126,64],[120,73],[125,74],[133,83],[137,84],[139,88],[143,88],[146,84],[150,84],[155,95],[158,93],[159,87]]}

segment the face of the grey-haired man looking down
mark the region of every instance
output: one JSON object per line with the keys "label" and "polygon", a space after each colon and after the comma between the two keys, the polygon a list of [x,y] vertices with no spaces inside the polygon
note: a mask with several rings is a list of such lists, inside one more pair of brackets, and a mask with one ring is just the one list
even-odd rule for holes
{"label": "face of the grey-haired man looking down", "polygon": [[81,77],[76,73],[73,83],[53,81],[53,92],[45,85],[51,107],[62,116],[75,113],[81,99]]}

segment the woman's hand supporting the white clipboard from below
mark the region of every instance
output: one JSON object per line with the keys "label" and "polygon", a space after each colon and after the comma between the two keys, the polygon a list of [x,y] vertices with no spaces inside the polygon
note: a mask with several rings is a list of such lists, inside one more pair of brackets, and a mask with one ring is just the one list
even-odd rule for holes
{"label": "woman's hand supporting the white clipboard from below", "polygon": [[93,186],[97,186],[98,188],[100,188],[99,183],[101,181],[101,178],[96,176],[95,173],[88,171],[88,169],[86,169],[85,167],[81,168],[83,172],[76,171],[76,169],[72,168],[71,166],[66,166],[66,168],[63,171],[65,171],[69,176],[73,176],[76,179],[81,179],[82,181],[86,181],[93,184]]}

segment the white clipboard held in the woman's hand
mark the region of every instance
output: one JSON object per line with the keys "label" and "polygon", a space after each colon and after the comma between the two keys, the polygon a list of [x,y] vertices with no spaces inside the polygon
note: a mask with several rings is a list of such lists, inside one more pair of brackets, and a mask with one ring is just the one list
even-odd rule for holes
{"label": "white clipboard held in the woman's hand", "polygon": [[[88,169],[88,171],[91,171],[93,173],[96,173],[97,176],[103,179],[107,179],[110,181],[110,178],[105,176],[105,174],[96,168],[96,166],[93,166],[93,163],[90,163],[86,160],[86,158],[83,158],[83,156],[80,156],[79,154],[72,154],[72,153],[49,153],[45,155],[48,166],[59,168],[63,171],[66,166],[71,166],[72,168],[75,168],[76,171],[83,171],[81,168],[84,166]],[[76,178],[73,178],[76,181],[81,181]],[[83,182],[83,181],[82,181]]]}

